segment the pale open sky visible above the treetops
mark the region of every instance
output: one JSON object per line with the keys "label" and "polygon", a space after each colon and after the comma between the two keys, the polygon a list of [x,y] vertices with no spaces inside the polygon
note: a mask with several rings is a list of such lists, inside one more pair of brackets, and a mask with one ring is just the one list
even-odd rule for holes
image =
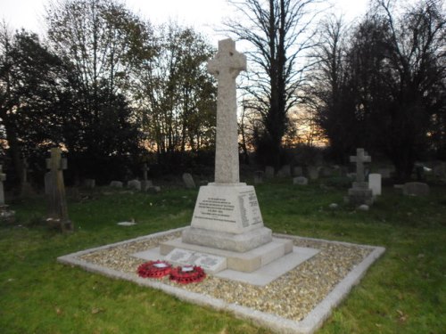
{"label": "pale open sky visible above the treetops", "polygon": [[[38,34],[45,31],[45,5],[51,0],[0,0],[0,20],[11,29],[25,28]],[[176,20],[192,26],[216,42],[223,36],[215,32],[222,20],[234,16],[227,0],[121,0],[128,9],[154,24]],[[332,0],[334,11],[352,20],[367,11],[368,0]]]}

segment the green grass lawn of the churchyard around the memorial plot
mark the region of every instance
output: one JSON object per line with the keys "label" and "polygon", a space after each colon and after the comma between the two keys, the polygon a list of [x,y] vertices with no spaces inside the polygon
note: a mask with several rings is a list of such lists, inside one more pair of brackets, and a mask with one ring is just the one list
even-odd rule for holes
{"label": "green grass lawn of the churchyard around the memorial plot", "polygon": [[[432,187],[425,198],[384,188],[363,212],[342,204],[345,189],[289,183],[256,187],[263,220],[273,232],[386,248],[318,333],[445,332],[446,187]],[[41,223],[43,199],[10,203],[16,222],[0,224],[0,333],[268,333],[231,314],[55,261],[185,226],[197,192],[88,192],[87,200],[69,201],[75,232],[66,235]],[[333,202],[340,207],[328,208]],[[132,218],[134,226],[116,224]]]}

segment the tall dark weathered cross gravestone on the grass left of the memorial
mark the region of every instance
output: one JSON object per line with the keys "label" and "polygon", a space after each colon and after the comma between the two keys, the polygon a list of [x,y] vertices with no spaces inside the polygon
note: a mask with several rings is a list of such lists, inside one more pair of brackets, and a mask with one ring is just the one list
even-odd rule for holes
{"label": "tall dark weathered cross gravestone on the grass left of the memorial", "polygon": [[46,221],[59,227],[62,232],[72,231],[73,224],[68,218],[67,200],[65,196],[65,185],[63,183],[63,170],[67,169],[67,159],[62,159],[61,149],[51,149],[51,158],[46,159],[48,172],[48,218]]}

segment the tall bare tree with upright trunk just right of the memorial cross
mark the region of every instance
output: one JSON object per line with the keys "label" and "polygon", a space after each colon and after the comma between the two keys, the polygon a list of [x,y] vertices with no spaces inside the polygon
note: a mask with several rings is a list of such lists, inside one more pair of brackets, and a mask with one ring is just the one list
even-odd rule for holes
{"label": "tall bare tree with upright trunk just right of the memorial cross", "polygon": [[[310,65],[302,61],[314,45],[310,24],[317,0],[229,0],[244,16],[229,20],[226,31],[249,42],[253,66],[244,89],[252,96],[249,107],[260,113],[258,153],[263,162],[280,165],[282,140],[288,126],[287,113],[301,101],[301,87]],[[260,146],[263,146],[260,148]]]}

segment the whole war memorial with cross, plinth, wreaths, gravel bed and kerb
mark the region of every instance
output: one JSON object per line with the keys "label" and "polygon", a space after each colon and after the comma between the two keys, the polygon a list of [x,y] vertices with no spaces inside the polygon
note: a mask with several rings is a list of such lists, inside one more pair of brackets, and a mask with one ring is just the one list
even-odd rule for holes
{"label": "whole war memorial with cross, plinth, wreaths, gravel bed and kerb", "polygon": [[[218,81],[215,179],[200,187],[190,222],[58,260],[161,289],[277,333],[313,333],[384,248],[276,234],[266,226],[256,190],[239,175],[235,80],[246,70],[246,57],[232,39],[221,40],[208,70]],[[321,279],[326,264],[345,273]],[[187,281],[192,273],[200,274],[194,283]],[[172,282],[180,276],[178,283],[191,284]]]}

